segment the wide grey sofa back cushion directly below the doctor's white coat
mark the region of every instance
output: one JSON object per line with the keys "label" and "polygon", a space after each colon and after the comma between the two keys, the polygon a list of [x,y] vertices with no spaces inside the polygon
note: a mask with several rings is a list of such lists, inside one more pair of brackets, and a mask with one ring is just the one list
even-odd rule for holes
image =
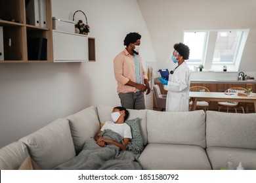
{"label": "wide grey sofa back cushion directly below the doctor's white coat", "polygon": [[148,110],[148,143],[190,144],[205,148],[205,112]]}

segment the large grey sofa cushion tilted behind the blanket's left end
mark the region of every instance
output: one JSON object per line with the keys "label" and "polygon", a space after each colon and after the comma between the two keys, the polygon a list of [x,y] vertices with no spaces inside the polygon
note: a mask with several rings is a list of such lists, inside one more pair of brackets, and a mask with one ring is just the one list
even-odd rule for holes
{"label": "large grey sofa cushion tilted behind the blanket's left end", "polygon": [[75,148],[66,119],[58,119],[20,141],[28,146],[31,158],[41,169],[53,169],[75,156]]}

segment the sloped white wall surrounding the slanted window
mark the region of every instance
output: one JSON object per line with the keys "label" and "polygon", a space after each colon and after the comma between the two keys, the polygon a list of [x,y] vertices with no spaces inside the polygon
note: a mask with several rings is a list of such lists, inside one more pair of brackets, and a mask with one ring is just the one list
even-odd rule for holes
{"label": "sloped white wall surrounding the slanted window", "polygon": [[[156,59],[161,69],[173,69],[167,59],[173,44],[182,42],[183,30],[250,29],[239,71],[256,76],[256,1],[255,0],[137,0],[152,39]],[[217,73],[213,77],[220,75]],[[237,77],[237,73],[221,73]],[[192,75],[193,76],[193,75]],[[198,73],[196,75],[198,76]],[[200,77],[211,77],[200,73]]]}

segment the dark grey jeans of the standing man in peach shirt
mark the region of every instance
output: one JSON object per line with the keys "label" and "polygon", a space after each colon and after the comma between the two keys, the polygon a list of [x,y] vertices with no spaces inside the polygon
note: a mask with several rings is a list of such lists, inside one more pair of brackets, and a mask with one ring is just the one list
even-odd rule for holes
{"label": "dark grey jeans of the standing man in peach shirt", "polygon": [[118,93],[121,106],[131,109],[145,109],[145,99],[142,92]]}

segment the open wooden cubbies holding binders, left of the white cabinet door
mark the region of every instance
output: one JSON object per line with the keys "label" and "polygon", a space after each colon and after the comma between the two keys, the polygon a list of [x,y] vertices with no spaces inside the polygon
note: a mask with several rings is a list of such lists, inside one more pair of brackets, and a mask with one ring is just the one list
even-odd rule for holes
{"label": "open wooden cubbies holding binders, left of the white cabinet door", "polygon": [[[0,26],[3,27],[3,47],[4,60],[0,63],[38,63],[53,62],[53,34],[52,34],[52,15],[51,0],[46,0],[47,27],[37,27],[26,24],[26,3],[25,0],[1,0],[0,16],[6,19],[0,20]],[[14,22],[12,20],[14,19]],[[21,23],[20,23],[21,22]],[[47,39],[47,60],[28,60],[28,39],[30,38]],[[9,39],[12,42],[12,51],[18,53],[21,57],[17,60],[7,58]]]}

